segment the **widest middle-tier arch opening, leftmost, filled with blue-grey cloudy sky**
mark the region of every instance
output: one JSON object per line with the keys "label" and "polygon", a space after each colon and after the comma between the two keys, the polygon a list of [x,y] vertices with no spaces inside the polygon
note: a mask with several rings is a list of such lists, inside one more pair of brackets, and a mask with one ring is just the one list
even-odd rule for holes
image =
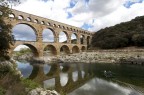
{"label": "widest middle-tier arch opening, leftmost, filled with blue-grey cloudy sky", "polygon": [[12,29],[15,40],[36,41],[36,30],[28,24],[17,24]]}

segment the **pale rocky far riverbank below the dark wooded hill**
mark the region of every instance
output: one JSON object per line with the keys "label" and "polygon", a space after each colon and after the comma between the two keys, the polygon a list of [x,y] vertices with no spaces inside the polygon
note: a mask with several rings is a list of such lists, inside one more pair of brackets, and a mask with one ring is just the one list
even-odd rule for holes
{"label": "pale rocky far riverbank below the dark wooded hill", "polygon": [[51,60],[58,60],[65,63],[121,63],[129,61],[144,62],[143,48],[125,48],[115,50],[92,50],[70,55],[59,55]]}

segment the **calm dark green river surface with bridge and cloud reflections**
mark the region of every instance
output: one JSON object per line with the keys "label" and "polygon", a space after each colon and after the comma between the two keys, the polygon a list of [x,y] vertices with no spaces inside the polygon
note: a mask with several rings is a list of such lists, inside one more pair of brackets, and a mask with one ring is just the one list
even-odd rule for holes
{"label": "calm dark green river surface with bridge and cloud reflections", "polygon": [[23,77],[67,95],[144,95],[144,66],[82,63],[43,65],[18,61],[17,64]]}

